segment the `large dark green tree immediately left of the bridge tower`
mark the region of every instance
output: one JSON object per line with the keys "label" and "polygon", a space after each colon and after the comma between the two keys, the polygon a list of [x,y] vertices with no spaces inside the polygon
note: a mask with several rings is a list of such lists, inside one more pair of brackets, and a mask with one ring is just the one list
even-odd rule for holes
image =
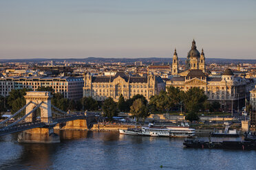
{"label": "large dark green tree immediately left of the bridge tower", "polygon": [[[24,95],[29,90],[30,89],[22,88],[17,90],[12,89],[10,91],[7,102],[8,102],[8,105],[12,108],[11,109],[12,114],[14,114],[18,110],[20,110],[23,106],[25,106]],[[23,110],[21,114],[25,114],[25,110]]]}

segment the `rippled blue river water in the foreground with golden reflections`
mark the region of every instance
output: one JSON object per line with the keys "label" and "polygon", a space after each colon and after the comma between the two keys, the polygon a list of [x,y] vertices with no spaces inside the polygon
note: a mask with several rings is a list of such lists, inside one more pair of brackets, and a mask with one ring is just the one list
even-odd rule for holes
{"label": "rippled blue river water in the foreground with golden reflections", "polygon": [[47,145],[17,143],[17,134],[1,136],[0,169],[256,169],[256,151],[189,149],[182,145],[184,138],[59,134],[61,143]]}

